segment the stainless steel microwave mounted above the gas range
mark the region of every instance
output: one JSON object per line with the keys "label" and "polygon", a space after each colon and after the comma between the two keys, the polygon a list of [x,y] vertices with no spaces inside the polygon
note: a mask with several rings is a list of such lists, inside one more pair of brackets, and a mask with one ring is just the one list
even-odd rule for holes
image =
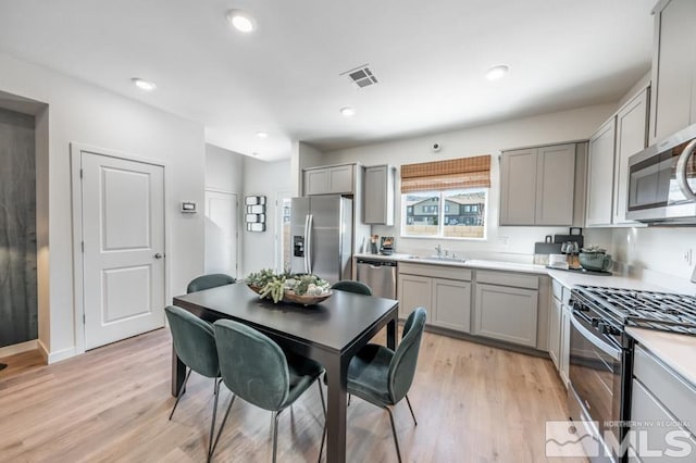
{"label": "stainless steel microwave mounted above the gas range", "polygon": [[696,224],[696,124],[629,159],[626,217]]}

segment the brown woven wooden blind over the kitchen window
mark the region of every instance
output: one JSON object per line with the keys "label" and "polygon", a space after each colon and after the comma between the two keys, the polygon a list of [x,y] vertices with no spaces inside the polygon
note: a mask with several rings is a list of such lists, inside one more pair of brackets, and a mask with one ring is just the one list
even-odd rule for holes
{"label": "brown woven wooden blind over the kitchen window", "polygon": [[490,186],[490,154],[401,165],[401,192]]}

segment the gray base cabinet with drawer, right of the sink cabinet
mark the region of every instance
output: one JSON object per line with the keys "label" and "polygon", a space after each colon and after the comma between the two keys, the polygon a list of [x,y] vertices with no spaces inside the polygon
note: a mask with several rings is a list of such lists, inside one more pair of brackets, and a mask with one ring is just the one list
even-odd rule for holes
{"label": "gray base cabinet with drawer, right of the sink cabinet", "polygon": [[476,272],[473,334],[536,348],[537,288],[533,275]]}

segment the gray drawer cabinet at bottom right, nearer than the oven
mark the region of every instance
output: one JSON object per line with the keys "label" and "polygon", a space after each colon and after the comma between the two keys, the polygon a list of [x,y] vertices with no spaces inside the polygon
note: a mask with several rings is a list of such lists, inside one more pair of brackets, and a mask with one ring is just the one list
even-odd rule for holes
{"label": "gray drawer cabinet at bottom right, nearer than the oven", "polygon": [[[634,350],[633,375],[631,429],[638,438],[647,439],[647,442],[638,442],[638,447],[662,453],[670,447],[666,439],[670,433],[673,438],[678,436],[679,440],[691,446],[689,449],[696,449],[696,386],[642,346]],[[674,461],[667,454],[644,460]],[[692,461],[689,458],[684,461],[687,460]]]}

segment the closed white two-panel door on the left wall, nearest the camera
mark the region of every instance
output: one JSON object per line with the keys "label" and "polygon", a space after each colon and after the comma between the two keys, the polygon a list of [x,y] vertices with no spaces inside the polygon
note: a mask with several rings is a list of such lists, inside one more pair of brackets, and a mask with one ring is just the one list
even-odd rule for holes
{"label": "closed white two-panel door on the left wall, nearest the camera", "polygon": [[83,151],[85,349],[164,326],[164,167]]}

